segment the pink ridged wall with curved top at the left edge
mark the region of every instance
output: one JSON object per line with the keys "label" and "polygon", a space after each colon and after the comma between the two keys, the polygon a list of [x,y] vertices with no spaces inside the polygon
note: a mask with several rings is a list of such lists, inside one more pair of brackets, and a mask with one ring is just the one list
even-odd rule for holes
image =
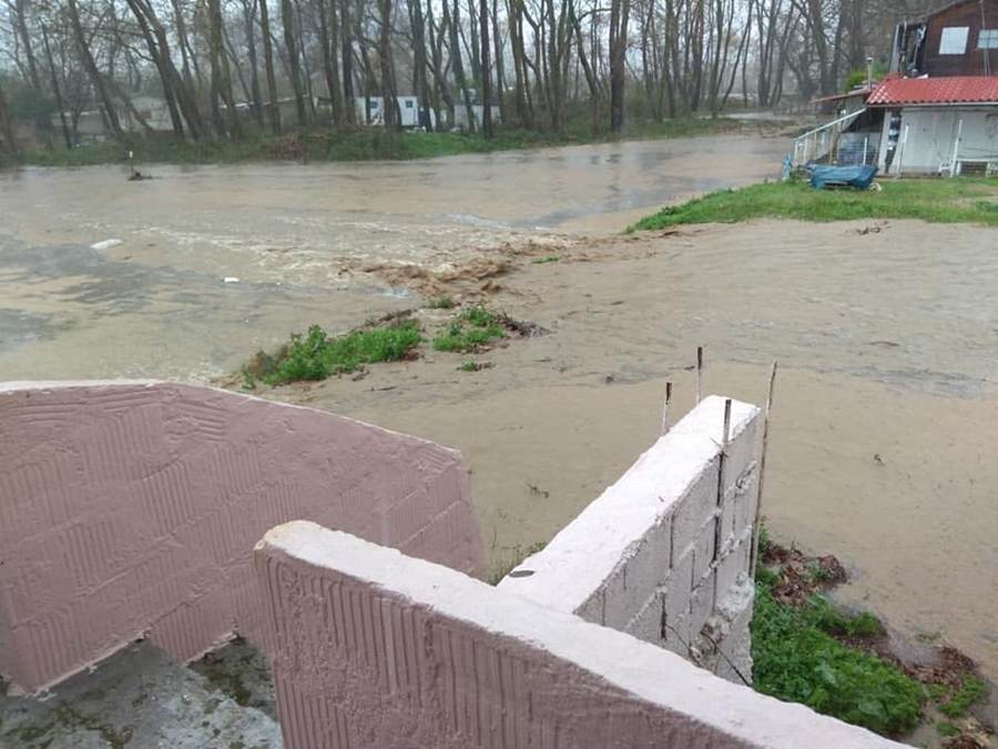
{"label": "pink ridged wall with curved top at the left edge", "polygon": [[310,519],[471,575],[458,453],[166,383],[0,384],[0,674],[37,691],[149,636],[266,646],[253,545]]}

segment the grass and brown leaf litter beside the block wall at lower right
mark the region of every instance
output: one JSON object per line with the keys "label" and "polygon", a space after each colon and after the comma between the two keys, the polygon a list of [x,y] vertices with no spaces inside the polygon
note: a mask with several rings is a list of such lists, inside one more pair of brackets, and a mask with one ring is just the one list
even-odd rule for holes
{"label": "grass and brown leaf litter beside the block wall at lower right", "polygon": [[889,737],[918,726],[935,726],[954,741],[979,732],[970,707],[988,690],[974,661],[947,646],[936,646],[927,660],[903,660],[875,616],[846,611],[826,598],[847,579],[835,557],[780,546],[765,527],[760,553],[752,618],[757,691]]}

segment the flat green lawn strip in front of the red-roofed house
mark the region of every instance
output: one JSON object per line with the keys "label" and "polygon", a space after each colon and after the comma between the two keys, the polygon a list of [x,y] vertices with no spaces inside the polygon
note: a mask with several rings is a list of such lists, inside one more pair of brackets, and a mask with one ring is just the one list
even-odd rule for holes
{"label": "flat green lawn strip in front of the red-roofed house", "polygon": [[752,219],[856,221],[920,219],[930,223],[998,226],[998,179],[885,180],[882,190],[814,190],[805,182],[772,182],[713,192],[662,209],[629,231]]}

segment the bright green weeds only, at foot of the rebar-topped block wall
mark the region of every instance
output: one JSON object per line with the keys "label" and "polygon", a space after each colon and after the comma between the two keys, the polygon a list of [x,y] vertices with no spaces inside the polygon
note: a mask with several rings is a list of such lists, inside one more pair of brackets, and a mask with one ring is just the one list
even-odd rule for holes
{"label": "bright green weeds only, at foot of the rebar-topped block wall", "polygon": [[846,625],[832,616],[831,604],[819,600],[795,608],[774,599],[768,585],[756,586],[755,689],[885,736],[915,728],[925,700],[921,685],[896,666],[829,635],[827,629]]}

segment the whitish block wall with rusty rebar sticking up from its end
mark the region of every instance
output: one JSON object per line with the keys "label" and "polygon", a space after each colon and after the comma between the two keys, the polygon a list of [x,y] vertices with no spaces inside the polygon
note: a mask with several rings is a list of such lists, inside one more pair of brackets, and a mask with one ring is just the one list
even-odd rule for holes
{"label": "whitish block wall with rusty rebar sticking up from its end", "polygon": [[750,680],[762,416],[732,403],[722,458],[724,408],[702,401],[499,587]]}

